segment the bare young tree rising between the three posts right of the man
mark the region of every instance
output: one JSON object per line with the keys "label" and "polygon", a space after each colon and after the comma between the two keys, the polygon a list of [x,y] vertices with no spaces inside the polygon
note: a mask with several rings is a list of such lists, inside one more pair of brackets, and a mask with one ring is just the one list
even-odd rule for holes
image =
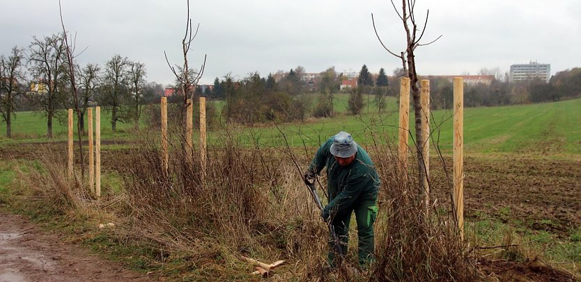
{"label": "bare young tree rising between the three posts right of the man", "polygon": [[[424,31],[426,31],[426,26],[428,25],[428,16],[430,15],[430,10],[428,10],[428,12],[426,13],[426,20],[424,22],[424,26],[423,26],[423,28],[421,28],[421,32],[418,34],[418,32],[420,30],[417,26],[417,22],[416,22],[416,18],[415,18],[415,13],[414,13],[415,5],[416,5],[415,0],[402,0],[401,1],[401,10],[398,10],[398,8],[396,7],[396,4],[392,0],[392,6],[394,7],[394,10],[396,11],[397,15],[401,19],[401,22],[403,23],[403,29],[405,30],[405,36],[406,36],[405,51],[401,51],[399,54],[396,54],[396,53],[392,52],[391,50],[389,50],[385,46],[385,44],[383,44],[383,42],[381,41],[381,38],[377,32],[377,28],[375,28],[375,19],[373,19],[373,13],[371,14],[371,21],[373,22],[373,31],[375,31],[375,35],[377,36],[379,42],[381,43],[381,46],[388,53],[392,54],[393,56],[396,56],[397,58],[399,58],[401,60],[401,65],[403,66],[403,72],[404,72],[405,76],[410,78],[410,83],[411,83],[411,88],[412,88],[411,92],[412,92],[412,97],[413,97],[413,102],[414,102],[414,112],[415,112],[414,113],[415,131],[416,131],[415,135],[416,135],[416,140],[421,140],[421,110],[422,109],[421,109],[421,104],[420,104],[420,100],[419,100],[420,89],[419,89],[419,83],[418,83],[417,72],[416,72],[416,61],[415,61],[414,51],[417,47],[432,44],[436,40],[440,39],[442,37],[442,35],[438,36],[435,40],[432,40],[431,42],[428,42],[426,44],[420,43],[422,37],[424,36]],[[424,167],[424,159],[423,159],[423,156],[421,154],[421,152],[424,148],[424,145],[429,146],[429,143],[422,144],[421,142],[416,142],[416,150],[417,150],[416,153],[418,156],[417,161],[418,161],[418,171],[419,171],[420,182],[421,182],[421,179],[424,179],[424,177],[426,177],[426,169]]]}

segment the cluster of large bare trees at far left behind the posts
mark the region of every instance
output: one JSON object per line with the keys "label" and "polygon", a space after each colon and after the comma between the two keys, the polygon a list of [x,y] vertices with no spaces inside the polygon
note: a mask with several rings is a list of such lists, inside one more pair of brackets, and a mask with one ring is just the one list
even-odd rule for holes
{"label": "cluster of large bare trees at far left behind the posts", "polygon": [[[133,122],[139,127],[139,118],[146,103],[157,102],[163,87],[146,81],[144,63],[121,55],[99,65],[74,65],[79,110],[84,117],[86,109],[103,106],[111,113],[111,128],[118,122]],[[37,38],[29,47],[13,47],[10,54],[0,55],[0,117],[11,135],[12,119],[18,110],[35,110],[45,115],[47,137],[53,137],[53,122],[63,122],[63,109],[77,108],[72,99],[68,61],[61,33]],[[81,128],[84,131],[83,119]]]}

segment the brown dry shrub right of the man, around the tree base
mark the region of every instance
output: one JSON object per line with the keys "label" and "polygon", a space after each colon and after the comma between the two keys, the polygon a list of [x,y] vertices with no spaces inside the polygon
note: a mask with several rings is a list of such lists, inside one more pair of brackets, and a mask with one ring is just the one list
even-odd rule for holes
{"label": "brown dry shrub right of the man, around the tree base", "polygon": [[[472,281],[474,263],[465,254],[451,213],[437,212],[425,194],[417,171],[403,172],[391,146],[373,147],[381,177],[380,215],[376,224],[373,281]],[[415,162],[410,161],[410,167]],[[434,197],[434,194],[431,195]]]}

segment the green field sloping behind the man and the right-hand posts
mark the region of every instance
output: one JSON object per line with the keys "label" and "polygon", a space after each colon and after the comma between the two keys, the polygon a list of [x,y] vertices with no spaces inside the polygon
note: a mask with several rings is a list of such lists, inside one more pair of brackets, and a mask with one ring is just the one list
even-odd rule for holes
{"label": "green field sloping behind the man and the right-hand posts", "polygon": [[[370,111],[362,116],[345,113],[328,119],[313,119],[304,124],[279,126],[290,144],[316,146],[339,131],[347,131],[359,144],[371,144],[371,133],[394,140],[398,131],[398,113],[395,99],[388,101],[389,108],[379,115]],[[581,99],[541,103],[525,106],[492,108],[465,108],[465,150],[470,153],[522,154],[581,154]],[[450,110],[436,110],[431,122],[432,138],[442,151],[452,149],[453,119]],[[414,128],[410,113],[410,131]],[[256,128],[263,144],[280,144],[277,128]],[[410,136],[410,146],[413,145]],[[432,144],[433,146],[433,144]]]}

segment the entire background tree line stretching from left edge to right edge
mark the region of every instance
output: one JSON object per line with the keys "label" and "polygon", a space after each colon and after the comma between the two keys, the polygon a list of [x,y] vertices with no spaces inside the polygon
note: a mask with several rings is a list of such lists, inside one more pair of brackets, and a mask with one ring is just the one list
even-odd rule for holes
{"label": "entire background tree line stretching from left edge to right edge", "polygon": [[[62,109],[77,108],[71,98],[68,62],[65,60],[61,34],[33,37],[29,47],[13,47],[10,53],[0,54],[0,117],[7,125],[6,134],[11,135],[11,123],[18,110],[35,110],[46,117],[47,136],[52,138],[52,126],[56,119],[64,122]],[[79,111],[84,116],[86,108],[100,105],[111,113],[111,129],[116,131],[118,122],[132,122],[139,128],[144,105],[159,103],[164,92],[162,85],[146,81],[144,63],[115,54],[104,64],[88,63],[75,65]],[[177,70],[182,72],[181,69]],[[190,75],[196,74],[192,69]],[[336,115],[333,101],[339,92],[349,94],[348,111],[358,115],[364,108],[364,94],[373,95],[373,103],[380,113],[386,108],[387,97],[398,97],[399,79],[403,69],[394,69],[387,76],[381,68],[377,75],[371,74],[366,65],[357,76],[357,87],[341,90],[341,82],[348,79],[334,67],[327,68],[312,79],[303,79],[303,67],[289,72],[260,76],[257,72],[245,78],[235,79],[230,75],[215,78],[212,87],[192,85],[194,98],[208,97],[222,100],[221,118],[226,122],[256,124],[261,122],[304,121],[308,117],[332,117]],[[465,106],[502,106],[522,103],[559,101],[581,96],[581,68],[567,69],[545,81],[510,83],[507,74],[498,69],[482,69],[479,74],[494,75],[490,84],[465,85]],[[419,76],[431,81],[431,106],[433,109],[451,108],[453,85],[451,80],[438,76]],[[180,103],[184,94],[179,81],[173,88],[176,93],[169,97],[170,103]],[[367,100],[369,101],[369,99]],[[371,103],[371,102],[370,102]],[[195,104],[194,101],[194,105]],[[216,110],[208,104],[208,120]],[[199,109],[195,109],[196,112]],[[176,115],[181,117],[180,110]],[[150,120],[157,119],[155,113]],[[176,120],[180,120],[176,118]],[[81,124],[84,128],[84,124]]]}

